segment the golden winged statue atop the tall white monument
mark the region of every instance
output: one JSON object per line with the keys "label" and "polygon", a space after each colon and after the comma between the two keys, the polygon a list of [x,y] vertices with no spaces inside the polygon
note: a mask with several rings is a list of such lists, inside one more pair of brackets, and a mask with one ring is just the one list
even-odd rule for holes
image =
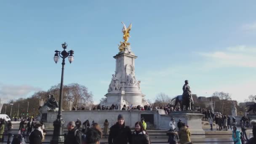
{"label": "golden winged statue atop the tall white monument", "polygon": [[130,37],[130,30],[131,30],[131,26],[132,24],[129,25],[128,28],[126,28],[125,24],[123,23],[122,21],[122,24],[123,24],[123,29],[122,29],[122,32],[123,32],[123,39],[125,41],[123,42],[120,42],[121,44],[118,45],[119,46],[119,51],[125,51],[125,48],[127,47],[127,45],[130,45],[130,43],[128,43],[128,40],[129,40],[129,37]]}

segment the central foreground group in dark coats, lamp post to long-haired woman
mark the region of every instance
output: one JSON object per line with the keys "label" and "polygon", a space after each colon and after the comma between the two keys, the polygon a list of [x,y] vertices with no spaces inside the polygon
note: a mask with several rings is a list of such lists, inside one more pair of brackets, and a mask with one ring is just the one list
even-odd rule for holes
{"label": "central foreground group in dark coats, lamp post to long-haired woman", "polygon": [[108,144],[150,144],[147,133],[147,123],[144,118],[135,123],[135,129],[125,125],[125,117],[118,115],[117,122],[109,128],[109,122],[104,121],[103,131],[98,123],[94,121],[90,125],[89,120],[81,123],[79,119],[76,122],[71,121],[67,125],[68,133],[64,144],[99,144],[102,136],[108,136]]}

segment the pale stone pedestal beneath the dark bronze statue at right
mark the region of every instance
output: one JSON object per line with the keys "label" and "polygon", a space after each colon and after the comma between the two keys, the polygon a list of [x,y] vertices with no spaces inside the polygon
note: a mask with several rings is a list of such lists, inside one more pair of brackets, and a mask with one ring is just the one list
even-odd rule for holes
{"label": "pale stone pedestal beneath the dark bronze statue at right", "polygon": [[189,126],[189,129],[193,135],[197,135],[198,138],[205,138],[205,131],[202,127],[203,115],[200,112],[175,111],[171,112],[171,117],[175,119],[176,124],[178,123],[179,119],[181,119],[181,122]]}

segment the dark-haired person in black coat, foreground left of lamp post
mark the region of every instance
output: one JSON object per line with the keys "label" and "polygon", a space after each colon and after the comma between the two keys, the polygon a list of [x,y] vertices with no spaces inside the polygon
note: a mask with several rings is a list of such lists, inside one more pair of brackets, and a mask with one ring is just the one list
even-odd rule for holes
{"label": "dark-haired person in black coat, foreground left of lamp post", "polygon": [[34,130],[29,134],[29,144],[41,144],[43,139],[43,131],[39,130],[40,124],[34,125]]}

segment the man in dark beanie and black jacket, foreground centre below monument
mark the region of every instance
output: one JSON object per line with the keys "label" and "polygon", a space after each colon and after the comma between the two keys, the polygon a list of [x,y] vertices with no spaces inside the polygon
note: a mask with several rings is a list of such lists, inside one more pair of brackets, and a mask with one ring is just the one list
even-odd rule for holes
{"label": "man in dark beanie and black jacket, foreground centre below monument", "polygon": [[118,115],[117,123],[110,128],[109,144],[131,144],[131,128],[125,126],[123,115]]}

